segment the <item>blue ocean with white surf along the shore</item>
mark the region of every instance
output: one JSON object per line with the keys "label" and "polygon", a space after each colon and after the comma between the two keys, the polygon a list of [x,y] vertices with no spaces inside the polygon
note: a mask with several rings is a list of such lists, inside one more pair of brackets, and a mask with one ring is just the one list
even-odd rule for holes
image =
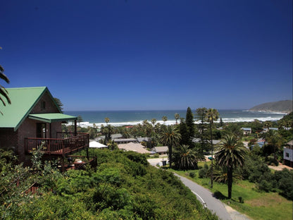
{"label": "blue ocean with white surf along the shore", "polygon": [[[218,110],[220,118],[223,122],[240,122],[240,121],[278,121],[285,114],[268,113],[268,112],[255,112],[246,110]],[[180,117],[185,118],[186,110],[142,110],[142,111],[65,111],[64,114],[71,116],[82,116],[83,122],[80,126],[87,127],[96,126],[100,127],[102,124],[106,125],[104,119],[109,118],[112,126],[125,126],[135,125],[142,123],[144,120],[151,122],[152,118],[156,118],[157,123],[163,123],[162,117],[167,116],[168,121],[166,125],[175,124],[175,113],[180,114]],[[193,110],[195,114],[195,110]],[[179,122],[179,121],[178,121]],[[195,122],[197,123],[197,121]]]}

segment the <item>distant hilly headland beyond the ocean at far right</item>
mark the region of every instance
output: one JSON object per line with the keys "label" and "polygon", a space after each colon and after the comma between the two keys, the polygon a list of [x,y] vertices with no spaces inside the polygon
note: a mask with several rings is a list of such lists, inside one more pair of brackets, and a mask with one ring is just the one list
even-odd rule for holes
{"label": "distant hilly headland beyond the ocean at far right", "polygon": [[279,102],[267,102],[263,104],[258,104],[253,108],[249,109],[249,111],[270,111],[270,112],[282,112],[282,113],[290,113],[293,109],[292,100],[284,100]]}

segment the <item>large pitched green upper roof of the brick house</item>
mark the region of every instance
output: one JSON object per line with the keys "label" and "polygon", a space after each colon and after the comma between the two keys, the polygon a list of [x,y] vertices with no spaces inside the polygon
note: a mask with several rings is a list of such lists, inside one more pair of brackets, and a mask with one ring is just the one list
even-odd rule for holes
{"label": "large pitched green upper roof of the brick house", "polygon": [[11,104],[1,108],[3,116],[0,116],[0,128],[13,128],[17,130],[45,92],[48,92],[52,102],[57,106],[58,111],[61,112],[47,87],[8,88],[6,90],[11,99]]}

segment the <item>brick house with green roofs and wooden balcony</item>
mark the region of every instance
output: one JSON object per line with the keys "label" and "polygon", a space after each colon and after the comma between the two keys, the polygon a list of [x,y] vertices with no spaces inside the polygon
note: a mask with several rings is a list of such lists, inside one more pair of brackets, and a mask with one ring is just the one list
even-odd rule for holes
{"label": "brick house with green roofs and wooden balcony", "polygon": [[[8,88],[11,104],[1,106],[0,148],[13,149],[20,162],[43,147],[44,157],[61,157],[89,147],[89,135],[77,133],[76,116],[63,114],[47,87]],[[74,121],[73,133],[62,133],[62,123]]]}

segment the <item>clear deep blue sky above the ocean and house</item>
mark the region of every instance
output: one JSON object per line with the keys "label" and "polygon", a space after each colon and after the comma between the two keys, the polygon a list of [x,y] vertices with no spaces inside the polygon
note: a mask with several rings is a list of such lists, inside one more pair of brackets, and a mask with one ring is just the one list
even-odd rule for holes
{"label": "clear deep blue sky above the ocean and house", "polygon": [[65,110],[292,99],[292,0],[1,1],[0,27],[1,85]]}

